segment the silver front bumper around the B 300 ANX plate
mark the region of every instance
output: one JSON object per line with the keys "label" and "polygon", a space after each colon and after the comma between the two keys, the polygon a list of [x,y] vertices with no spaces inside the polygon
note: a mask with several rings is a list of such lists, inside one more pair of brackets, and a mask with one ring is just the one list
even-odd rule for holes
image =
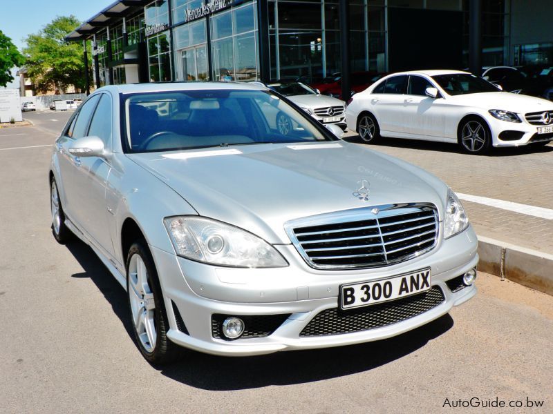
{"label": "silver front bumper around the B 300 ANX plate", "polygon": [[[151,248],[164,292],[171,341],[204,353],[234,356],[359,344],[393,337],[427,324],[476,294],[474,285],[452,291],[446,283],[475,268],[478,263],[476,235],[470,227],[460,235],[440,242],[434,250],[417,259],[386,268],[315,270],[303,262],[292,246],[277,247],[290,263],[289,267],[218,268]],[[339,285],[381,279],[427,266],[432,269],[432,286],[440,288],[444,296],[444,300],[429,311],[355,333],[300,335],[316,315],[337,308]],[[185,328],[178,324],[176,318],[180,317],[174,310],[182,317]],[[229,341],[214,337],[214,314],[290,316],[268,336]]]}

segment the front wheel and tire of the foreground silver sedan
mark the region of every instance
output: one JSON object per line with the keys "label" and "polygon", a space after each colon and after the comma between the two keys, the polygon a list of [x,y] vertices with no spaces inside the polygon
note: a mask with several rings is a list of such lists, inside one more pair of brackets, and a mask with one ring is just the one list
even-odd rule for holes
{"label": "front wheel and tire of the foreground silver sedan", "polygon": [[169,319],[156,266],[144,239],[134,242],[126,259],[126,290],[135,342],[151,364],[176,361],[180,347],[167,337]]}

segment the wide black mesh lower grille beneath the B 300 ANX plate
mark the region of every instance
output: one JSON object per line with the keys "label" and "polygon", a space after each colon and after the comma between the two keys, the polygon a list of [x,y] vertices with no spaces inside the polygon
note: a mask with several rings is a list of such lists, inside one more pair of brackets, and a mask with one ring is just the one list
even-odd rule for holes
{"label": "wide black mesh lower grille beneath the B 300 ANX plate", "polygon": [[444,299],[442,290],[434,286],[427,292],[351,311],[341,311],[339,308],[326,309],[311,319],[299,335],[339,335],[379,328],[427,312],[444,302]]}

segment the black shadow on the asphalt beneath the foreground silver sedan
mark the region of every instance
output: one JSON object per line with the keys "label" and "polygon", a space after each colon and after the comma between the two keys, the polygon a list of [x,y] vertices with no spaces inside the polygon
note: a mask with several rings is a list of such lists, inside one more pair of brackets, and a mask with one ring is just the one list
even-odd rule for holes
{"label": "black shadow on the asphalt beneath the foreground silver sedan", "polygon": [[[129,339],[134,341],[124,289],[86,244],[66,245],[88,277],[111,304]],[[182,359],[153,366],[172,380],[209,391],[233,391],[269,385],[302,384],[342,377],[388,364],[422,348],[453,326],[449,314],[397,337],[336,348],[290,351],[255,357],[220,357],[182,349]],[[140,357],[137,353],[136,357]]]}

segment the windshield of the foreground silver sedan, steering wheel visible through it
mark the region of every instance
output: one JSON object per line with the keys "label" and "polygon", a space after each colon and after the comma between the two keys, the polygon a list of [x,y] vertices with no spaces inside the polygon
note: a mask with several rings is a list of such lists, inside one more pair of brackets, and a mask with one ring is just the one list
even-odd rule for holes
{"label": "windshield of the foreground silver sedan, steering wheel visible through it", "polygon": [[124,100],[131,152],[331,141],[315,120],[272,92],[148,92]]}

